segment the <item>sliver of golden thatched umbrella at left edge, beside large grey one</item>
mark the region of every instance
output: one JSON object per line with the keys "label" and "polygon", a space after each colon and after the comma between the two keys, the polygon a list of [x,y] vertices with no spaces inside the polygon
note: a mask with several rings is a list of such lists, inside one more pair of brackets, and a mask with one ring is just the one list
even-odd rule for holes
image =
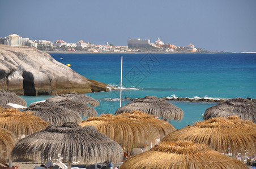
{"label": "sliver of golden thatched umbrella at left edge, beside large grey one", "polygon": [[17,142],[18,139],[14,133],[0,127],[0,159],[7,160]]}

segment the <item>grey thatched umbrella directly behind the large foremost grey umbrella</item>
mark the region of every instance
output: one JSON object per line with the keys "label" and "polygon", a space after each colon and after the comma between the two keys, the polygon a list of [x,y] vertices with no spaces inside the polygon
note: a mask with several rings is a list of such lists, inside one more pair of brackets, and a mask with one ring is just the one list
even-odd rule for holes
{"label": "grey thatched umbrella directly behind the large foremost grey umbrella", "polygon": [[25,111],[32,112],[44,121],[57,126],[65,122],[80,123],[82,121],[78,112],[61,108],[52,103],[37,103],[29,106]]}

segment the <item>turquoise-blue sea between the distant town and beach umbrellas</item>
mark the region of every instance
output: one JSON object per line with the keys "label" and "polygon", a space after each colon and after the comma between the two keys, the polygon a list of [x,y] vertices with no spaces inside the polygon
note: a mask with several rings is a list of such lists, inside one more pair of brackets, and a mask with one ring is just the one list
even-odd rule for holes
{"label": "turquoise-blue sea between the distant town and beach umbrellas", "polygon": [[[89,79],[120,87],[123,56],[122,98],[130,97],[209,97],[256,99],[256,54],[50,54],[70,64],[71,69]],[[100,101],[99,114],[114,113],[119,108],[120,91],[89,93]],[[22,96],[28,105],[50,96]],[[122,105],[129,103],[122,101]],[[204,111],[215,103],[171,102],[184,110],[182,128],[202,121]]]}

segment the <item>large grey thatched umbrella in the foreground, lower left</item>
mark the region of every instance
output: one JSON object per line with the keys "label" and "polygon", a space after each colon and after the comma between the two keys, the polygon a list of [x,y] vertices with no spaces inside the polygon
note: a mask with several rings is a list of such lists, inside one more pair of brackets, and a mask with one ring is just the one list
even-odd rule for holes
{"label": "large grey thatched umbrella in the foreground, lower left", "polygon": [[76,123],[62,126],[49,126],[20,140],[12,149],[11,157],[28,159],[58,159],[68,161],[71,168],[72,159],[80,163],[120,162],[123,150],[115,141],[100,134],[94,127],[80,127]]}

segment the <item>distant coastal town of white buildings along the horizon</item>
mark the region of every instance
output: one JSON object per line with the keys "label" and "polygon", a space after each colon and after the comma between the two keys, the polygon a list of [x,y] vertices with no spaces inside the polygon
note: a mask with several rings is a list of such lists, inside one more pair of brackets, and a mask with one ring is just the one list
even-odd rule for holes
{"label": "distant coastal town of white buildings along the horizon", "polygon": [[150,39],[128,39],[127,46],[115,46],[106,42],[105,45],[96,45],[90,42],[78,41],[76,43],[67,43],[62,39],[55,42],[46,40],[29,40],[29,38],[20,37],[18,34],[10,34],[7,37],[0,37],[0,44],[8,46],[30,46],[45,52],[168,52],[168,53],[191,53],[191,52],[210,52],[202,48],[195,47],[193,44],[187,46],[176,46],[173,44],[157,41],[151,43]]}

